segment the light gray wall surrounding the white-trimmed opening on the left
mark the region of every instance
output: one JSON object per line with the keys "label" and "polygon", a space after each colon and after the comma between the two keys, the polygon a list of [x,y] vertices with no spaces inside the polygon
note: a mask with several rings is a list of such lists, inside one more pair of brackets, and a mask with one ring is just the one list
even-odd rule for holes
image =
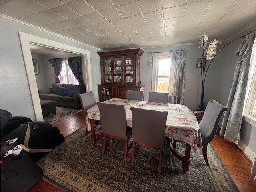
{"label": "light gray wall surrounding the white-trimmed opening on the left", "polygon": [[62,38],[46,31],[15,22],[0,16],[1,25],[1,58],[0,58],[0,104],[1,109],[8,110],[13,116],[26,116],[35,119],[28,80],[18,31],[53,40],[59,43],[78,47],[90,51],[91,72],[92,72],[92,91],[98,99],[98,86],[101,78],[100,58],[97,54],[99,49],[86,46],[84,44]]}

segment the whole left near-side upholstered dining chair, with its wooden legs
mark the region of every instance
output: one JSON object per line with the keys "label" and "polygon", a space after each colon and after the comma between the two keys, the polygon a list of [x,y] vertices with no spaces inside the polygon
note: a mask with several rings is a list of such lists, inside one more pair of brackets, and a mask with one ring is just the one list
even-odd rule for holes
{"label": "whole left near-side upholstered dining chair, with its wooden legs", "polygon": [[102,154],[105,154],[108,137],[124,140],[124,162],[128,151],[128,139],[132,135],[132,128],[126,125],[124,105],[106,104],[97,102],[100,110],[100,122],[104,134]]}

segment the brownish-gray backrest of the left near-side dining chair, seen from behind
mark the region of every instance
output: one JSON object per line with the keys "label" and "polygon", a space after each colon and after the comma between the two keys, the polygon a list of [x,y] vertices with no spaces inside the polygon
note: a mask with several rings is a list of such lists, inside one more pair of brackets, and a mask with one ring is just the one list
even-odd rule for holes
{"label": "brownish-gray backrest of the left near-side dining chair, seen from behind", "polygon": [[102,132],[104,134],[128,139],[125,106],[100,102],[97,102],[97,105],[100,110]]}

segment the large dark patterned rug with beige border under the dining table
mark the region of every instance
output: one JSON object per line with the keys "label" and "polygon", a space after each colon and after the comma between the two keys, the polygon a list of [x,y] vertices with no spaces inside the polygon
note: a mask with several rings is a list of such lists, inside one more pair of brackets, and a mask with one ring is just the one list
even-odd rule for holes
{"label": "large dark patterned rug with beige border under the dining table", "polygon": [[[98,126],[97,129],[100,129]],[[95,146],[85,127],[65,138],[51,153],[38,161],[44,178],[64,191],[72,192],[236,192],[239,191],[211,145],[208,145],[207,167],[201,150],[191,151],[190,169],[183,173],[182,163],[171,158],[164,149],[162,172],[157,174],[158,150],[139,146],[131,165],[132,138],[129,140],[127,161],[123,162],[124,141],[108,141],[102,155],[103,138]],[[177,149],[185,148],[177,142]]]}

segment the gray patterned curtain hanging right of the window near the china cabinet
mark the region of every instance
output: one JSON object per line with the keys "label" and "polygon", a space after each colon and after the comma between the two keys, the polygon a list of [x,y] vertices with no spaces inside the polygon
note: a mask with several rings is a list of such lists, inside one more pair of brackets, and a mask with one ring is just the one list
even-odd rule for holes
{"label": "gray patterned curtain hanging right of the window near the china cabinet", "polygon": [[[186,50],[172,50],[174,80],[169,83],[170,100],[174,104],[183,104],[185,89]],[[171,77],[170,77],[171,78]]]}

